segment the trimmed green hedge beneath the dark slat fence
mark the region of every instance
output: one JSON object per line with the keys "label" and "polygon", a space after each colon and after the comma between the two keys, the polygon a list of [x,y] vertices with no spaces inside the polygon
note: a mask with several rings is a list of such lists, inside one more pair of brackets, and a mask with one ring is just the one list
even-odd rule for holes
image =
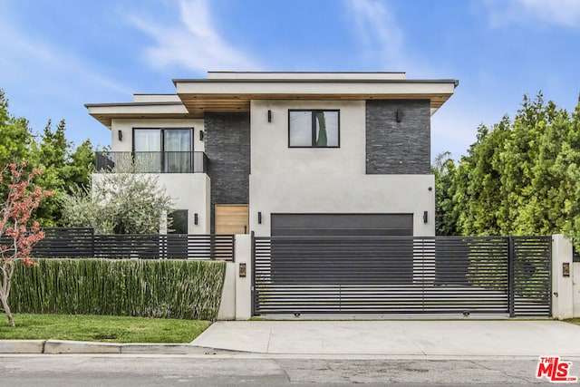
{"label": "trimmed green hedge beneath the dark slat fence", "polygon": [[14,267],[14,313],[111,314],[214,320],[226,263],[188,260],[38,259]]}

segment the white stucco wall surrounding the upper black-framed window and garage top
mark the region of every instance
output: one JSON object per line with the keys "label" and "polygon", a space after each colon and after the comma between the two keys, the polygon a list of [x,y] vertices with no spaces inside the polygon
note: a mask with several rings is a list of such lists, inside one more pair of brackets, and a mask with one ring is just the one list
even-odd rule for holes
{"label": "white stucco wall surrounding the upper black-framed window and garage top", "polygon": [[[289,109],[340,110],[340,148],[289,148]],[[415,236],[435,234],[432,175],[365,174],[364,102],[253,101],[250,120],[250,229],[257,236],[270,235],[272,213],[413,214]]]}

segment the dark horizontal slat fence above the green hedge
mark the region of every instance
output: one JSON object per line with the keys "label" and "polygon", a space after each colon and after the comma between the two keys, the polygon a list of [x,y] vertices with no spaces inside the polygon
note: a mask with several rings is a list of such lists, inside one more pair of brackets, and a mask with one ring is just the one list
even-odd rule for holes
{"label": "dark horizontal slat fence above the green hedge", "polygon": [[[92,228],[43,228],[35,258],[197,259],[234,261],[233,235],[95,235]],[[9,239],[0,238],[8,244]]]}

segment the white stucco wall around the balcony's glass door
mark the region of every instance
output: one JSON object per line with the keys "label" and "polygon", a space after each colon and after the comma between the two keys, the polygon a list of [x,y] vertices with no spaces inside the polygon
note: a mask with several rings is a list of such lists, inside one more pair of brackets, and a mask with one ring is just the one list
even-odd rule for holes
{"label": "white stucco wall around the balcony's glass door", "polygon": [[[199,140],[199,131],[204,131],[203,120],[114,119],[111,121],[112,151],[131,152],[133,150],[133,128],[193,128],[193,150],[206,150],[204,141]],[[121,141],[119,131],[122,132]]]}

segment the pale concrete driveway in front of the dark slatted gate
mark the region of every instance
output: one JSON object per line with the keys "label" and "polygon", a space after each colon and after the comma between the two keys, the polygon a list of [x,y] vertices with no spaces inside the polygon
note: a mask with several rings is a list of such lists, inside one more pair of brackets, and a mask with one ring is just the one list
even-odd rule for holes
{"label": "pale concrete driveway in front of the dark slatted gate", "polygon": [[237,321],[192,342],[251,353],[580,359],[580,326],[559,321]]}

